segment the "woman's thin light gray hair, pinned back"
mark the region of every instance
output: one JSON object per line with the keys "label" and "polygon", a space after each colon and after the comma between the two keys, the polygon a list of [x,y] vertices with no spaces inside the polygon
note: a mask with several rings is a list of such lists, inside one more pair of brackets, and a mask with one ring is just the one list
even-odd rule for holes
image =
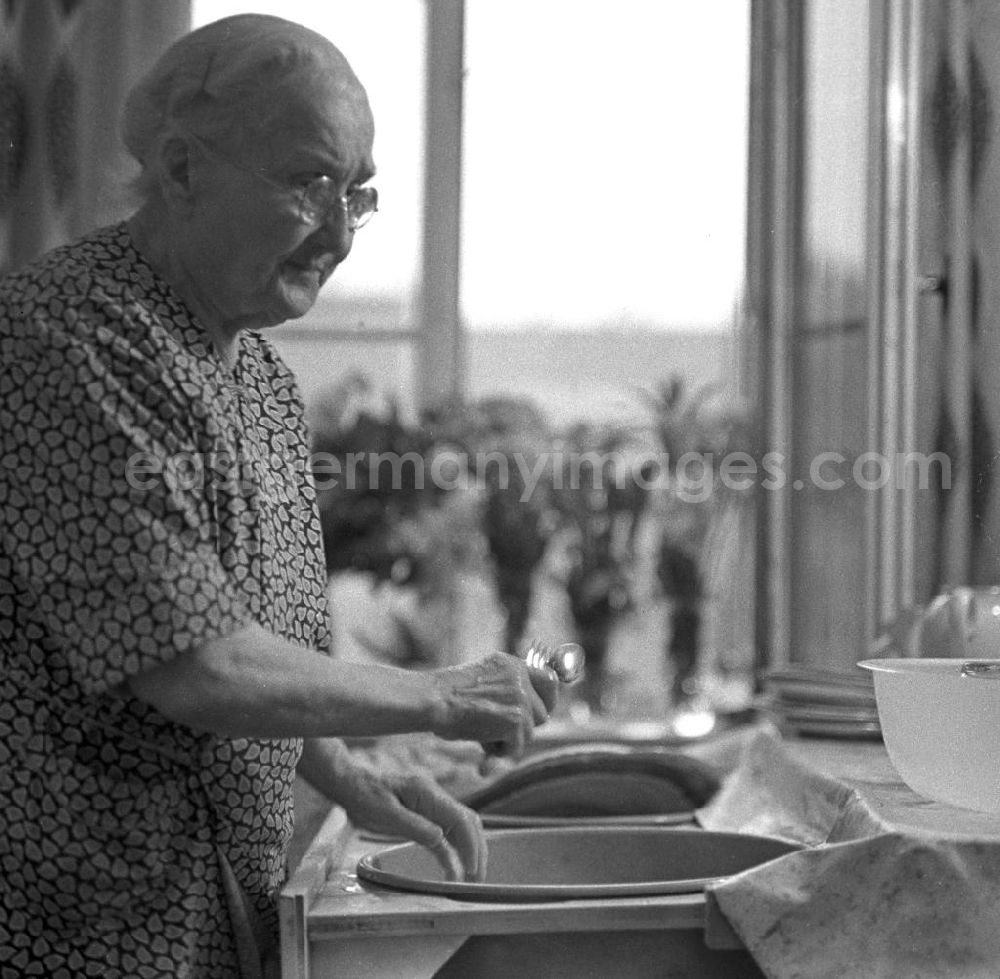
{"label": "woman's thin light gray hair, pinned back", "polygon": [[157,150],[171,136],[241,143],[266,130],[272,118],[268,96],[276,89],[318,76],[361,89],[329,40],[281,17],[237,14],[186,34],[125,101],[122,142],[142,167],[135,191],[143,199],[155,193]]}

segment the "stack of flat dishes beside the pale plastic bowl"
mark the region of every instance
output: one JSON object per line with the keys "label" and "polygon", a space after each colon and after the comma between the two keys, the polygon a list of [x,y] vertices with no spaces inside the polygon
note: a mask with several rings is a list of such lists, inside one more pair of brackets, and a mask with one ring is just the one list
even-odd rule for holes
{"label": "stack of flat dishes beside the pale plastic bowl", "polygon": [[880,738],[871,674],[792,665],[764,676],[758,706],[783,730],[820,738]]}

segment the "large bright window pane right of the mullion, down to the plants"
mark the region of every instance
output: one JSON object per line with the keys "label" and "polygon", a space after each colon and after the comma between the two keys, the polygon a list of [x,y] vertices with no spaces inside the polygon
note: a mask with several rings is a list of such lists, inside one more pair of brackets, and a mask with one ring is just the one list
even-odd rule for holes
{"label": "large bright window pane right of the mullion, down to the plants", "polygon": [[[477,332],[510,336],[506,362],[473,358],[474,393],[562,375],[575,410],[590,392],[613,411],[624,375],[723,369],[743,277],[747,0],[505,0],[466,18],[463,315],[473,353]],[[574,362],[531,359],[524,330]],[[682,333],[696,336],[668,335]],[[603,379],[574,366],[590,346]]]}

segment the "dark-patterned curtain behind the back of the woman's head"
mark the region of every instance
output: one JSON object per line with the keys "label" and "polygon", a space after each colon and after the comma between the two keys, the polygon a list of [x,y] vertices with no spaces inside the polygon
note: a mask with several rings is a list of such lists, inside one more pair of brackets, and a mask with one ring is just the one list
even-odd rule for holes
{"label": "dark-patterned curtain behind the back of the woman's head", "polygon": [[128,215],[129,88],[190,0],[0,0],[0,271]]}

